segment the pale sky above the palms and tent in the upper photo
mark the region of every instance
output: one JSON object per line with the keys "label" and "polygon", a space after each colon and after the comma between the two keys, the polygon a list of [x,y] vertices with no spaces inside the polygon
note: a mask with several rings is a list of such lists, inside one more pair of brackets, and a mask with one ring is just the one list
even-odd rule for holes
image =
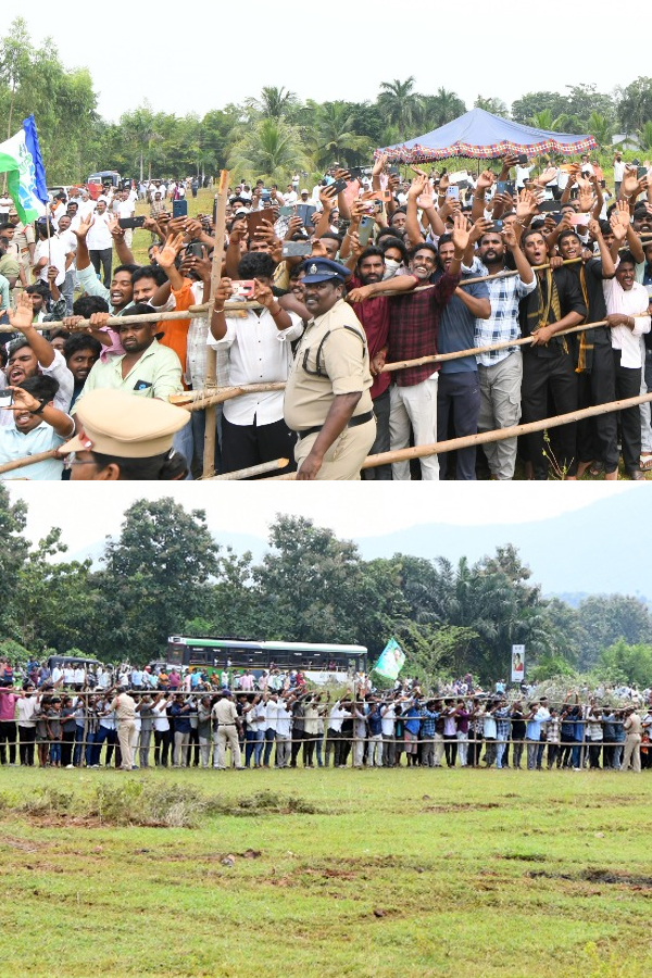
{"label": "pale sky above the palms and tent in the upper photo", "polygon": [[[105,29],[79,0],[64,7],[33,0],[20,15],[36,43],[54,40],[66,67],[90,70],[100,114],[111,121],[145,99],[155,111],[203,115],[266,85],[284,86],[302,100],[364,101],[376,98],[381,82],[414,75],[418,91],[443,86],[471,109],[478,95],[510,104],[526,91],[563,91],[580,83],[609,92],[649,74],[645,45],[628,41],[626,58],[614,57],[614,11],[600,0],[590,13],[578,12],[575,24],[561,0],[537,12],[480,0],[456,10],[454,18],[436,4],[272,7],[250,0],[240,14],[218,3],[186,11],[164,0],[123,9],[120,25],[106,23]],[[10,3],[4,23],[17,14]],[[572,37],[589,58],[565,46]],[[524,59],[524,45],[548,54],[540,62]]]}

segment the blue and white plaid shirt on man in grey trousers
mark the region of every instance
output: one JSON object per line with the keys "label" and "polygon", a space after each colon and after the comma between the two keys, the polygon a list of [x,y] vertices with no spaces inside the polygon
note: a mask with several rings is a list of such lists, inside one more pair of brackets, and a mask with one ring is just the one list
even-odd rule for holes
{"label": "blue and white plaid shirt on man in grey trousers", "polygon": [[[471,268],[463,266],[463,271],[471,272],[473,275],[489,275],[489,269],[478,258],[474,259]],[[518,339],[521,336],[518,303],[537,288],[536,276],[529,285],[522,281],[519,275],[493,278],[487,283],[487,288],[491,301],[491,315],[488,319],[476,319],[476,347],[489,347],[505,340]],[[506,347],[504,350],[478,353],[476,360],[482,366],[493,366],[517,349],[518,347]]]}

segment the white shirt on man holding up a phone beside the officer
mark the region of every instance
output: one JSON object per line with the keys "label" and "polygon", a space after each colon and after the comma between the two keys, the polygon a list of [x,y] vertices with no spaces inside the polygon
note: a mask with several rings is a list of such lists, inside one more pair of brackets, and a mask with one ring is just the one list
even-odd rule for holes
{"label": "white shirt on man holding up a phone beside the officer", "polygon": [[[252,309],[247,317],[226,316],[226,334],[216,340],[209,333],[208,344],[214,350],[229,351],[229,384],[268,384],[288,379],[292,363],[293,339],[303,333],[303,323],[289,313],[292,325],[277,329],[272,313],[263,309],[258,316]],[[269,425],[283,417],[283,390],[243,394],[224,402],[224,416],[233,425]]]}

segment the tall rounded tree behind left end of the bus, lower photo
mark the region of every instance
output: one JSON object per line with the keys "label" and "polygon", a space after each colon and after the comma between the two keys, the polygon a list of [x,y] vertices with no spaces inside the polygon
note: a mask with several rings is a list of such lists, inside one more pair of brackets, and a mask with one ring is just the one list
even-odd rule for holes
{"label": "tall rounded tree behind left end of the bus, lower photo", "polygon": [[218,568],[218,544],[203,510],[187,513],[172,499],[138,500],[117,540],[110,540],[105,568],[92,575],[100,593],[92,637],[106,660],[143,662],[198,615]]}

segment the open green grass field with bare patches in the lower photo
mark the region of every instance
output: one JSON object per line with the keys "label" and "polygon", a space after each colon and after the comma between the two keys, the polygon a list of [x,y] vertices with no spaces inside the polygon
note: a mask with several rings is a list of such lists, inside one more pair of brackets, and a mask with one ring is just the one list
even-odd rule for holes
{"label": "open green grass field with bare patches in the lower photo", "polygon": [[[197,827],[102,820],[141,787]],[[0,975],[636,978],[649,798],[602,772],[2,768]]]}

